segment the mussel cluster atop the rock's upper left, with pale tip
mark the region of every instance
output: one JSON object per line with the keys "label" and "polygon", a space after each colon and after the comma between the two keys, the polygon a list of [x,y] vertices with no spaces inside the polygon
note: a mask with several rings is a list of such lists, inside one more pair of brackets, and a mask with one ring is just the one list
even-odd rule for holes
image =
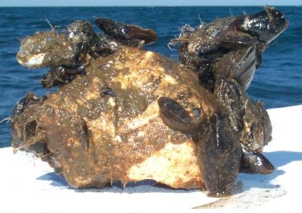
{"label": "mussel cluster atop the rock's upper left, with pale tip", "polygon": [[[111,19],[95,19],[104,33],[95,33],[89,21],[74,21],[62,33],[55,28],[36,33],[21,41],[17,61],[28,68],[50,67],[42,77],[44,88],[68,84],[76,75],[85,74],[84,67],[97,57],[117,52],[120,46],[142,47],[157,35],[151,29],[126,25]],[[59,65],[58,65],[59,64]]]}

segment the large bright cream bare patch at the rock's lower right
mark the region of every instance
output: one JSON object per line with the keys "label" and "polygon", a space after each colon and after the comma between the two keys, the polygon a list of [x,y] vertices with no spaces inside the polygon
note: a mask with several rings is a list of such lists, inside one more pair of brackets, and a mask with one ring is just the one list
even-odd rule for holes
{"label": "large bright cream bare patch at the rock's lower right", "polygon": [[202,185],[193,142],[174,145],[169,142],[144,162],[133,165],[128,172],[133,181],[152,179],[171,187],[186,187],[192,182]]}

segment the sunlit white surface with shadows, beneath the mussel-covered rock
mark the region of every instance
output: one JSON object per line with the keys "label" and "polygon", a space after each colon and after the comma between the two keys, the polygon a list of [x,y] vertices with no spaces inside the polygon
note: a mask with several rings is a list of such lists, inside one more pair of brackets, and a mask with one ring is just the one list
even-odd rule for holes
{"label": "sunlit white surface with shadows, beneath the mussel-covered rock", "polygon": [[[0,149],[0,212],[187,212],[197,208],[249,208],[283,212],[301,209],[302,105],[270,109],[273,141],[265,156],[270,175],[240,174],[229,198],[209,198],[200,190],[153,187],[151,181],[122,189],[73,189],[47,163],[12,148]],[[207,204],[208,203],[208,204]]]}

